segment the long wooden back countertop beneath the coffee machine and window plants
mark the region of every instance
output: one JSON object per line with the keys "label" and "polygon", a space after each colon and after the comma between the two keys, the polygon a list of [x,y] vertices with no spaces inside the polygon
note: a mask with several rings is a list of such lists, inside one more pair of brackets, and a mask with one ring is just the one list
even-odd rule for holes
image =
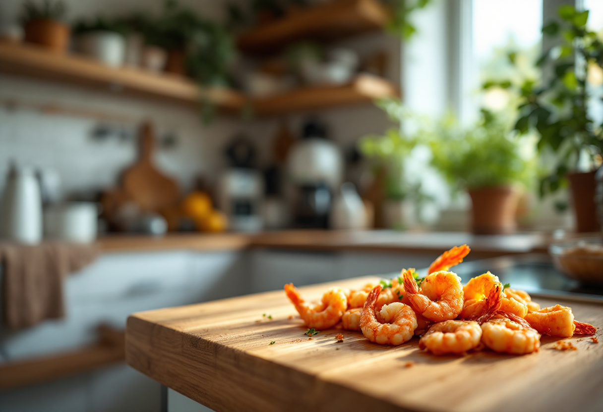
{"label": "long wooden back countertop beneath the coffee machine and window plants", "polygon": [[542,233],[474,235],[461,232],[397,232],[287,230],[255,234],[168,234],[164,237],[113,235],[101,237],[105,252],[230,251],[247,248],[277,248],[308,251],[437,252],[467,244],[472,257],[494,257],[548,250],[551,237]]}

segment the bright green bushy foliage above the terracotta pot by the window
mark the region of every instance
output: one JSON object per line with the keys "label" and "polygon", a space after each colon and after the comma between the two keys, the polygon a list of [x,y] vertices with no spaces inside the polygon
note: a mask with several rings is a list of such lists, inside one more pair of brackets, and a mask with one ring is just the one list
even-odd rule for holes
{"label": "bright green bushy foliage above the terracotta pot by the window", "polygon": [[444,119],[430,146],[432,165],[456,190],[529,184],[534,170],[532,156],[522,153],[522,138],[487,110],[469,130]]}

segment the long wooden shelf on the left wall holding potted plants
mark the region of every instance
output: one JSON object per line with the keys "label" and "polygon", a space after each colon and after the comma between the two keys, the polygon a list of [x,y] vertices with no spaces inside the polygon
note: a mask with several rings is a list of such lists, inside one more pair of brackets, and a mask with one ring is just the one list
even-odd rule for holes
{"label": "long wooden shelf on the left wall holding potted plants", "polygon": [[194,81],[182,76],[134,67],[109,67],[90,58],[52,54],[28,44],[0,43],[0,73],[185,103],[197,104],[203,96],[219,107],[232,110],[241,108],[245,102],[243,96],[232,90],[200,90]]}

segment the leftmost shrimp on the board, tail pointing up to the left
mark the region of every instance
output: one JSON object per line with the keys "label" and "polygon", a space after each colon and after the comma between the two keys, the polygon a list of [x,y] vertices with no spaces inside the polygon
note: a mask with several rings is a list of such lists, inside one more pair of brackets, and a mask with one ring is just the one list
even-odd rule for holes
{"label": "leftmost shrimp on the board, tail pointing up to the left", "polygon": [[327,290],[323,295],[322,302],[317,305],[306,303],[292,283],[285,285],[285,293],[292,304],[295,305],[295,309],[308,328],[318,330],[330,328],[341,320],[341,316],[347,310],[347,298],[343,289],[333,288]]}

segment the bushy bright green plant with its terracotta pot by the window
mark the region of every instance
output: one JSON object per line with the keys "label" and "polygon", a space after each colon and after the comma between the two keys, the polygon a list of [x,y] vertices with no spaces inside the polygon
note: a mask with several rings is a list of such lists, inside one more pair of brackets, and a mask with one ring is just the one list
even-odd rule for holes
{"label": "bushy bright green plant with its terracotta pot by the window", "polygon": [[518,185],[529,182],[533,163],[522,153],[520,137],[482,110],[482,119],[469,130],[443,122],[430,145],[432,165],[453,189],[469,193],[473,233],[512,233]]}

